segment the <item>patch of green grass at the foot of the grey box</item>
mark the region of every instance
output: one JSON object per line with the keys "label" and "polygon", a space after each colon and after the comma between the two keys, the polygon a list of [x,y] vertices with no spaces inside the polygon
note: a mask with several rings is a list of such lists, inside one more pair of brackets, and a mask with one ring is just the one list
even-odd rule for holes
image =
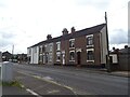
{"label": "patch of green grass at the foot of the grey box", "polygon": [[17,86],[22,88],[22,85],[18,81],[12,81],[12,82],[0,82],[0,86]]}

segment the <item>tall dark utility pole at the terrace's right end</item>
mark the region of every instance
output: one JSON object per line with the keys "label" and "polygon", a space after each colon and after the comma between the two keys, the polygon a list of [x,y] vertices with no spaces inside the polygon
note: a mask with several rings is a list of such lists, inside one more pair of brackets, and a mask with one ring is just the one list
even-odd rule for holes
{"label": "tall dark utility pole at the terrace's right end", "polygon": [[108,43],[108,28],[107,28],[107,13],[105,12],[105,23],[106,23],[106,43],[107,43],[107,55],[106,55],[106,68],[107,72],[110,72],[110,63],[109,63],[109,43]]}

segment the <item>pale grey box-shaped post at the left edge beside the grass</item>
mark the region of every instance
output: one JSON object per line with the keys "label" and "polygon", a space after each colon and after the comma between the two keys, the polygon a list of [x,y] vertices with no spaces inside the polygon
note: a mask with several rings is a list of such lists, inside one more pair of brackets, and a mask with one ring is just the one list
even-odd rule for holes
{"label": "pale grey box-shaped post at the left edge beside the grass", "polygon": [[10,61],[0,63],[1,75],[0,80],[2,82],[12,82],[13,81],[13,65]]}

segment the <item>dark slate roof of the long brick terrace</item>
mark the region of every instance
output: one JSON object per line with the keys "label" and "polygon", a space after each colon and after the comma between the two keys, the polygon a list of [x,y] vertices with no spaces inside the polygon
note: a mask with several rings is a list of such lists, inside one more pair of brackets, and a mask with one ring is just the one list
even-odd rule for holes
{"label": "dark slate roof of the long brick terrace", "polygon": [[46,40],[46,41],[41,41],[41,42],[30,46],[30,47],[34,47],[34,46],[37,46],[37,45],[40,45],[40,44],[57,42],[57,41],[61,41],[61,40],[68,40],[68,39],[73,39],[73,38],[77,38],[77,37],[81,37],[81,36],[96,33],[96,32],[100,32],[104,26],[106,26],[106,24],[96,25],[96,26],[93,26],[93,27],[90,27],[90,28],[78,30],[74,33],[68,33],[68,34],[56,37],[56,38],[52,38],[52,39],[49,39],[49,40]]}

